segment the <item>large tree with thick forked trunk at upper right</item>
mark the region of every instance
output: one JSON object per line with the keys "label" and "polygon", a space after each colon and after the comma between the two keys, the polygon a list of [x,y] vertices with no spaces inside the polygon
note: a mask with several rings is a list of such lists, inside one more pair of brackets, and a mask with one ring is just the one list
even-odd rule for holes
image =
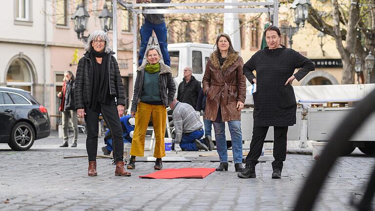
{"label": "large tree with thick forked trunk at upper right", "polygon": [[308,22],[323,33],[332,36],[340,53],[343,74],[342,84],[354,83],[355,55],[362,61],[362,70],[366,81],[367,68],[365,58],[369,51],[374,51],[375,38],[375,0],[331,0],[331,12],[311,8]]}

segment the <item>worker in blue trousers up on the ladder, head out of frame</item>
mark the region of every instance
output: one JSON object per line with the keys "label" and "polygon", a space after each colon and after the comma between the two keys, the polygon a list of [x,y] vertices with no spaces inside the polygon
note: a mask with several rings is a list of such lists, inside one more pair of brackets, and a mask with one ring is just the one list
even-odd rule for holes
{"label": "worker in blue trousers up on the ladder, head out of frame", "polygon": [[[170,3],[170,0],[137,0],[137,3]],[[152,7],[151,9],[165,9],[165,7]],[[154,30],[158,38],[160,50],[162,51],[164,63],[170,66],[169,53],[167,49],[167,26],[164,14],[143,14],[145,21],[141,27],[141,47],[139,49],[138,63],[141,66],[145,51],[147,48],[148,39]]]}

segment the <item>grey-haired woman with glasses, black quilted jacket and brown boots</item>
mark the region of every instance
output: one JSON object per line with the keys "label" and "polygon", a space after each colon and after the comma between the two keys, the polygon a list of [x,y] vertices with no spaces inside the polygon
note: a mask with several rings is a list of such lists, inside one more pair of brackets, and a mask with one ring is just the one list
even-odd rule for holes
{"label": "grey-haired woman with glasses, black quilted jacket and brown boots", "polygon": [[86,53],[77,67],[75,105],[78,116],[87,126],[86,150],[88,155],[88,176],[96,176],[96,155],[98,151],[99,114],[102,113],[110,128],[113,140],[113,157],[116,162],[116,176],[130,176],[124,168],[124,142],[120,117],[124,114],[125,93],[119,65],[109,47],[109,38],[104,31],[90,35],[84,47]]}

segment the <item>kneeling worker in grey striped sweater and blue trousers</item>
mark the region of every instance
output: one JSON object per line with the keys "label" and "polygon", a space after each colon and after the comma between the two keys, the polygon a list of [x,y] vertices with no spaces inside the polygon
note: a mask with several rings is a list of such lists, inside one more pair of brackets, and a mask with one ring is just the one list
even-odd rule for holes
{"label": "kneeling worker in grey striped sweater and blue trousers", "polygon": [[201,139],[205,133],[203,124],[194,108],[186,103],[173,99],[170,108],[173,109],[173,124],[175,128],[175,151],[206,151],[213,149],[210,138]]}

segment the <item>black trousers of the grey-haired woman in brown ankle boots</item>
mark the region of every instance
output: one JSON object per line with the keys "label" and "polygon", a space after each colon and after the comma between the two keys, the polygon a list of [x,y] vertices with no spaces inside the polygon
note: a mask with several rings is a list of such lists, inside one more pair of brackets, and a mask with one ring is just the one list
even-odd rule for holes
{"label": "black trousers of the grey-haired woman in brown ankle boots", "polygon": [[[86,150],[88,161],[96,161],[96,155],[98,152],[99,113],[91,110],[88,106],[86,106],[85,112],[86,115],[84,115],[84,121],[86,122],[87,127]],[[123,129],[121,127],[116,103],[113,101],[108,105],[101,104],[101,113],[112,136],[114,160],[116,162],[123,161]]]}

